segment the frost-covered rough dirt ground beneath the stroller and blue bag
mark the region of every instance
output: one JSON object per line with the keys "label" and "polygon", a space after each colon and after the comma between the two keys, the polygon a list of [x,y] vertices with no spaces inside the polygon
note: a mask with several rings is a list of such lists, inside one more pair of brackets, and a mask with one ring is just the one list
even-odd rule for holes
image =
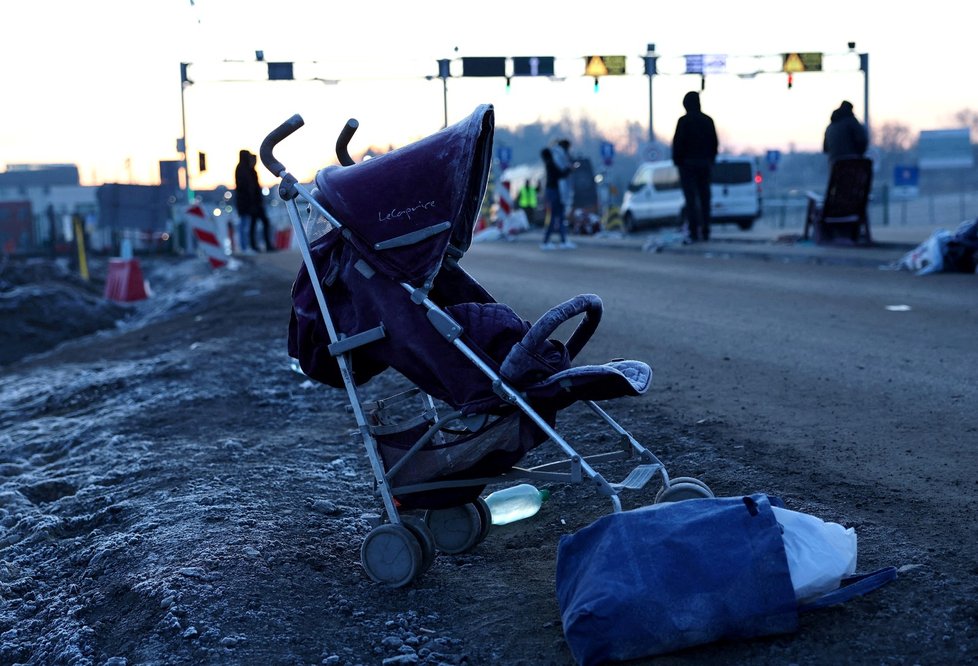
{"label": "frost-covered rough dirt ground beneath the stroller and blue bag", "polygon": [[[606,499],[557,487],[539,514],[439,554],[413,585],[378,586],[360,545],[380,504],[345,393],[286,354],[291,277],[247,258],[219,273],[194,258],[143,267],[154,296],[133,305],[100,301],[98,267],[90,285],[50,266],[45,279],[0,273],[0,664],[574,663],[556,547]],[[65,293],[39,322],[38,304]],[[368,395],[399,384],[385,373]],[[585,426],[567,411],[574,436]],[[728,432],[671,422],[654,391],[626,415],[670,467],[739,487],[750,463]],[[825,479],[798,474],[822,495]],[[793,634],[647,663],[974,663],[975,563],[937,526],[920,552],[864,513],[822,517],[856,528],[866,567],[900,564],[896,582],[803,615]]]}

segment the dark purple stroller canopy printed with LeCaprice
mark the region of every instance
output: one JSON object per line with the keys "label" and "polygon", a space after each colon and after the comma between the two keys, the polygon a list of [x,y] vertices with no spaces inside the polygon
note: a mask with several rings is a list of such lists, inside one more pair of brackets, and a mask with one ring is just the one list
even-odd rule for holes
{"label": "dark purple stroller canopy printed with LeCaprice", "polygon": [[349,241],[388,277],[433,279],[449,244],[465,252],[479,217],[492,158],[494,112],[464,120],[385,155],[316,174],[317,201]]}

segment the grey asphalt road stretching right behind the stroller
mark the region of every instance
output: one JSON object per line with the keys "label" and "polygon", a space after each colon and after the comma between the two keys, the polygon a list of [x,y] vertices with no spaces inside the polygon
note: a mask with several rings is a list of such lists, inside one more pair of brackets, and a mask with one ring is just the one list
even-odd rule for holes
{"label": "grey asphalt road stretching right behind the stroller", "polygon": [[845,484],[975,503],[973,275],[519,242],[477,244],[463,265],[531,321],[597,293],[585,358],[650,363],[653,399],[680,421],[790,447]]}

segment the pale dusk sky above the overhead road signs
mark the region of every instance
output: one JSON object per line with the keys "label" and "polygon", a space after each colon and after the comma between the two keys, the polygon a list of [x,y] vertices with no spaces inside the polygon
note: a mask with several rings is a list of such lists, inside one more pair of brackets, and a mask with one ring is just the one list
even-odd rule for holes
{"label": "pale dusk sky above the overhead road signs", "polygon": [[[874,129],[954,127],[957,112],[978,107],[975,10],[950,0],[2,0],[0,8],[0,169],[73,163],[87,185],[158,182],[158,162],[180,157],[184,118],[200,188],[233,183],[239,149],[257,153],[294,113],[306,126],[277,155],[300,178],[335,161],[348,118],[360,123],[355,153],[427,136],[446,109],[451,123],[481,103],[495,106],[498,126],[587,117],[624,142],[627,123],[649,124],[641,56],[650,43],[660,68],[653,128],[667,142],[682,96],[700,88],[683,73],[690,54],[726,56],[728,71],[706,77],[702,102],[728,152],[819,150],[843,99],[862,119],[859,53],[869,56]],[[258,50],[265,61],[293,62],[295,80],[268,81]],[[789,52],[823,53],[826,71],[796,74],[790,90],[786,74],[754,73]],[[626,56],[626,75],[602,77],[595,92],[587,55]],[[451,59],[460,74],[460,59],[473,56],[553,56],[556,80],[514,78],[507,89],[502,78],[453,76],[446,94],[437,61]],[[182,62],[194,83],[181,100]],[[198,151],[207,154],[203,174]]]}

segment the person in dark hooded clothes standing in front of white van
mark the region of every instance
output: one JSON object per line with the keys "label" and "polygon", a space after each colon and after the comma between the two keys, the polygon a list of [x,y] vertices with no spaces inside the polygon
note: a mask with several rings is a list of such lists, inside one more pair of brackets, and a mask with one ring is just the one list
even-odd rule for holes
{"label": "person in dark hooded clothes standing in front of white van", "polygon": [[700,109],[698,92],[686,93],[683,107],[686,114],[676,123],[672,139],[672,162],[679,167],[689,240],[695,242],[710,239],[710,174],[720,142],[713,119]]}

